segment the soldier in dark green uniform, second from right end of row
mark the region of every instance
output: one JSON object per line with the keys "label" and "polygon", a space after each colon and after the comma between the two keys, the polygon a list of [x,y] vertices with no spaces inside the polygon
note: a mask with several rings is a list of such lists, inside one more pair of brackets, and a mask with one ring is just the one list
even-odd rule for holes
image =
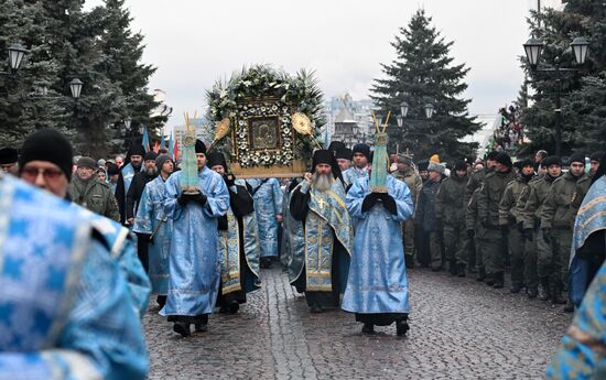
{"label": "soldier in dark green uniform, second from right end of row", "polygon": [[[523,235],[529,242],[535,242],[537,274],[539,276],[539,298],[548,301],[549,275],[551,273],[551,248],[543,239],[543,232],[539,228],[543,202],[548,197],[553,182],[562,175],[562,161],[555,155],[550,155],[541,163],[547,169],[547,174],[529,184],[530,193],[522,211]],[[545,261],[545,258],[549,259]],[[531,294],[529,293],[529,296]]]}

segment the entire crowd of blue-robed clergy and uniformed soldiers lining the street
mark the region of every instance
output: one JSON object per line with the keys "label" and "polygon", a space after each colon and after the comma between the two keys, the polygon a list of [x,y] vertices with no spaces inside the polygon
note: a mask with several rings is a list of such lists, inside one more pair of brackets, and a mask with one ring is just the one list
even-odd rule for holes
{"label": "entire crowd of blue-robed clergy and uniformed soldiers lining the street", "polygon": [[[278,261],[311,313],[340,307],[364,334],[396,324],[399,336],[410,328],[407,269],[510,283],[567,312],[604,272],[603,152],[589,167],[585,154],[564,165],[544,151],[445,164],[333,142],[314,151],[310,173],[281,181],[236,178],[223,153],[199,140],[194,149],[195,167],[142,145],[74,159],[54,130],[0,149],[12,174],[0,176],[0,351],[13,354],[0,354],[0,379],[7,369],[44,378],[82,368],[144,378],[139,319],[150,294],[187,337],[192,326],[206,332],[215,310],[237,313]],[[183,186],[192,169],[194,191]]]}

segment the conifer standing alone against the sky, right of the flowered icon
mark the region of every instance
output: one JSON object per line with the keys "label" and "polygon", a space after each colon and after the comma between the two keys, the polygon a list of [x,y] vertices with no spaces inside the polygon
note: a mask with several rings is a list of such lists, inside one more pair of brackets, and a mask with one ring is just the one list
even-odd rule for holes
{"label": "conifer standing alone against the sky, right of the flowered icon", "polygon": [[[467,111],[470,100],[461,98],[469,68],[453,64],[453,42],[446,42],[431,22],[431,17],[418,10],[408,26],[400,29],[391,43],[397,59],[381,64],[385,77],[375,79],[370,97],[382,117],[388,110],[394,113],[388,128],[390,151],[409,149],[418,160],[434,153],[443,160],[467,156],[477,144],[459,140],[480,128]],[[403,128],[398,128],[396,116],[403,101],[409,111]],[[434,107],[432,119],[425,118],[426,104]]]}

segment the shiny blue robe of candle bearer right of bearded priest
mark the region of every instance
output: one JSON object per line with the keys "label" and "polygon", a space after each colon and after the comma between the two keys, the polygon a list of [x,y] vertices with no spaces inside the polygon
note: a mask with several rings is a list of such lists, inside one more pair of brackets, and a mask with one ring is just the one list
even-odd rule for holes
{"label": "shiny blue robe of candle bearer right of bearded priest", "polygon": [[361,210],[370,194],[367,178],[347,193],[347,208],[356,225],[354,254],[342,308],[360,314],[410,313],[409,286],[400,222],[414,211],[408,186],[387,176],[387,191],[397,205],[391,214],[382,205]]}

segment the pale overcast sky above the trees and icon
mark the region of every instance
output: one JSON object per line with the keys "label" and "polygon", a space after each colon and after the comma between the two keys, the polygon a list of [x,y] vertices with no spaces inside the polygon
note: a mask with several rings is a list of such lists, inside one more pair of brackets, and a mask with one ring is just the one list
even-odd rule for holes
{"label": "pale overcast sky above the trees and icon", "polygon": [[[87,8],[101,3],[88,0]],[[464,94],[473,113],[496,112],[516,99],[531,0],[362,1],[147,1],[130,0],[134,31],[145,35],[143,59],[158,66],[150,88],[184,111],[205,107],[205,89],[247,64],[271,63],[289,72],[316,70],[326,98],[349,91],[368,98],[381,62],[394,58],[398,28],[423,8],[441,34],[454,41],[454,64],[470,67]]]}

